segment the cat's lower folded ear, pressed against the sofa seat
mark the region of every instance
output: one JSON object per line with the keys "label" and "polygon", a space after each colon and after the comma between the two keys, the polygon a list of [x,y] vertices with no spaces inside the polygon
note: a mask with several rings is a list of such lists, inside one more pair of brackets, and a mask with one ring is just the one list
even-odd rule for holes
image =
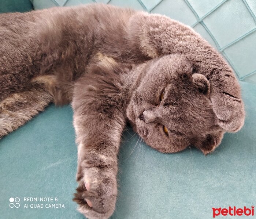
{"label": "cat's lower folded ear, pressed against the sofa seat", "polygon": [[197,139],[195,146],[200,149],[204,153],[204,155],[207,155],[214,151],[214,149],[220,145],[223,134],[224,131],[222,130],[207,134],[204,139]]}

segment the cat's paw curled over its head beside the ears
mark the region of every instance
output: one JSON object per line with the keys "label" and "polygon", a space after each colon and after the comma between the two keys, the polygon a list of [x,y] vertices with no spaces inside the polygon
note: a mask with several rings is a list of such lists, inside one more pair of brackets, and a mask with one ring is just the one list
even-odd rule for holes
{"label": "cat's paw curled over its head beside the ears", "polygon": [[226,131],[236,132],[244,124],[245,111],[242,99],[226,92],[211,97],[216,124]]}

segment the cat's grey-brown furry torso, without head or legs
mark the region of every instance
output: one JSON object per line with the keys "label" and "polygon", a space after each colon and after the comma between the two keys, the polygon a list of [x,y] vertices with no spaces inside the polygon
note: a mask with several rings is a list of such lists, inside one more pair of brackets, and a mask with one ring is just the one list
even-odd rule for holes
{"label": "cat's grey-brown furry torso, without head or legs", "polygon": [[[145,61],[147,55],[132,48],[124,30],[134,13],[86,5],[1,14],[1,100],[27,88],[31,80],[49,81],[42,76],[51,75],[62,93],[67,92],[62,97],[56,94],[55,103],[64,104],[71,100],[70,82],[86,72],[97,53],[123,62]],[[113,25],[112,20],[116,21]]]}

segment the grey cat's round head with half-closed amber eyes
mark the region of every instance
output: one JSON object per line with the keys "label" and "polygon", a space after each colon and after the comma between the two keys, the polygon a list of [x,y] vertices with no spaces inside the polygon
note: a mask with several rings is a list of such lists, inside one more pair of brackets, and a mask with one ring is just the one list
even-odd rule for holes
{"label": "grey cat's round head with half-closed amber eyes", "polygon": [[193,74],[190,62],[178,54],[138,69],[126,114],[140,137],[163,153],[192,145],[204,154],[212,152],[224,131],[215,124],[207,78]]}

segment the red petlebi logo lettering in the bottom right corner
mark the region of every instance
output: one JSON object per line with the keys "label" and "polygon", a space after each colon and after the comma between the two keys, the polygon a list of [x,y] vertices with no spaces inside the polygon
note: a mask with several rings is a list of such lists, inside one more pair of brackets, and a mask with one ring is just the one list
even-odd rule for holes
{"label": "red petlebi logo lettering in the bottom right corner", "polygon": [[233,208],[229,206],[229,208],[212,208],[212,217],[215,218],[216,216],[254,216],[254,206],[252,205],[251,208],[237,208],[234,206]]}

